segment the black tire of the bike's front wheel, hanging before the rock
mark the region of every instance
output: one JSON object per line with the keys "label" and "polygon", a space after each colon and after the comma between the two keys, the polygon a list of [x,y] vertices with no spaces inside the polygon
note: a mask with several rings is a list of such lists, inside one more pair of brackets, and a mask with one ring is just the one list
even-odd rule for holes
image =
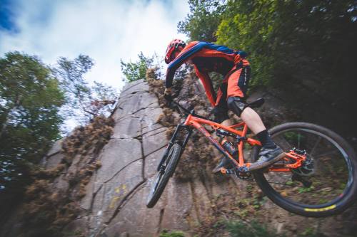
{"label": "black tire of the bike's front wheel, hanging before the rock", "polygon": [[164,191],[167,182],[170,177],[174,174],[178,160],[181,157],[181,145],[174,143],[170,148],[169,155],[166,157],[164,162],[164,174],[158,172],[154,183],[151,185],[150,193],[148,199],[146,200],[146,206],[148,208],[153,208],[157,201],[159,201],[162,192]]}

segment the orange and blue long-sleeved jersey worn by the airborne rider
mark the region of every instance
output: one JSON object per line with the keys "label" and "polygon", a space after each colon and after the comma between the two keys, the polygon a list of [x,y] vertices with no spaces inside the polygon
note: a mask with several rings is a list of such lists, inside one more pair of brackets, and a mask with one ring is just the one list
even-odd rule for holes
{"label": "orange and blue long-sleeved jersey worn by the airborne rider", "polygon": [[[183,48],[181,53],[169,64],[166,70],[166,88],[171,88],[174,74],[183,63],[191,60],[200,78],[208,100],[212,105],[216,104],[216,94],[213,90],[211,78],[208,73],[216,72],[221,75],[228,75],[238,63],[241,63],[243,54],[241,51],[233,51],[226,46],[218,46],[213,43],[203,41],[193,41]],[[249,65],[244,60],[244,64]],[[219,94],[219,92],[218,92]]]}

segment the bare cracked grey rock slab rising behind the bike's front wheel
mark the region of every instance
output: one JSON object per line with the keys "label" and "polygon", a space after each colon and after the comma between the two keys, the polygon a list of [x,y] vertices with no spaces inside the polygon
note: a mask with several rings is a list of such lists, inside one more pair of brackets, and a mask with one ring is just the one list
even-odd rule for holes
{"label": "bare cracked grey rock slab rising behind the bike's front wheel", "polygon": [[[171,179],[153,209],[146,208],[151,181],[164,147],[161,107],[143,80],[124,88],[113,117],[114,135],[99,159],[102,167],[88,184],[81,206],[89,236],[157,236],[163,229],[188,231],[211,214],[211,198],[233,188],[213,189],[213,180]],[[78,221],[77,221],[78,222]],[[71,225],[70,228],[76,228]]]}

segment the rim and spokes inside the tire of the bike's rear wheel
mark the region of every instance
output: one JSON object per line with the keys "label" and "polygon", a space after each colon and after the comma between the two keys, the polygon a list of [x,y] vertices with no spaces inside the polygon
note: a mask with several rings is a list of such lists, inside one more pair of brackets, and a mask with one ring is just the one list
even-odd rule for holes
{"label": "rim and spokes inside the tire of the bike's rear wheel", "polygon": [[312,181],[310,187],[293,180],[293,172],[268,172],[263,177],[276,195],[298,206],[331,206],[341,201],[352,184],[352,164],[343,148],[333,139],[315,130],[291,128],[271,136],[288,152],[293,147],[305,149],[313,160],[313,174],[298,177]]}

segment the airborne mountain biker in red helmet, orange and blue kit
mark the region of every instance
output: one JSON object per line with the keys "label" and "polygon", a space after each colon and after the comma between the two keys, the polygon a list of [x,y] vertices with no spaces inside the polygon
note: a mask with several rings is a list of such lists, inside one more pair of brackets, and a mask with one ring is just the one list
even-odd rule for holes
{"label": "airborne mountain biker in red helmet, orange and blue kit", "polygon": [[[245,102],[246,90],[251,78],[251,67],[246,60],[244,51],[233,51],[226,46],[218,46],[204,41],[193,41],[186,46],[186,43],[180,39],[174,39],[167,46],[165,63],[169,64],[166,70],[166,89],[164,92],[166,100],[172,100],[171,87],[175,71],[183,63],[192,63],[213,107],[215,122],[230,126],[228,110],[231,110],[238,117],[241,117],[261,142],[259,159],[252,163],[250,167],[268,167],[277,161],[274,158],[282,154],[283,150],[273,142],[268,130],[263,125],[261,117]],[[208,75],[211,72],[223,75],[217,93],[213,90]],[[221,162],[213,169],[213,172],[219,172],[222,167],[227,168],[229,166],[231,166],[230,160],[222,157]]]}

